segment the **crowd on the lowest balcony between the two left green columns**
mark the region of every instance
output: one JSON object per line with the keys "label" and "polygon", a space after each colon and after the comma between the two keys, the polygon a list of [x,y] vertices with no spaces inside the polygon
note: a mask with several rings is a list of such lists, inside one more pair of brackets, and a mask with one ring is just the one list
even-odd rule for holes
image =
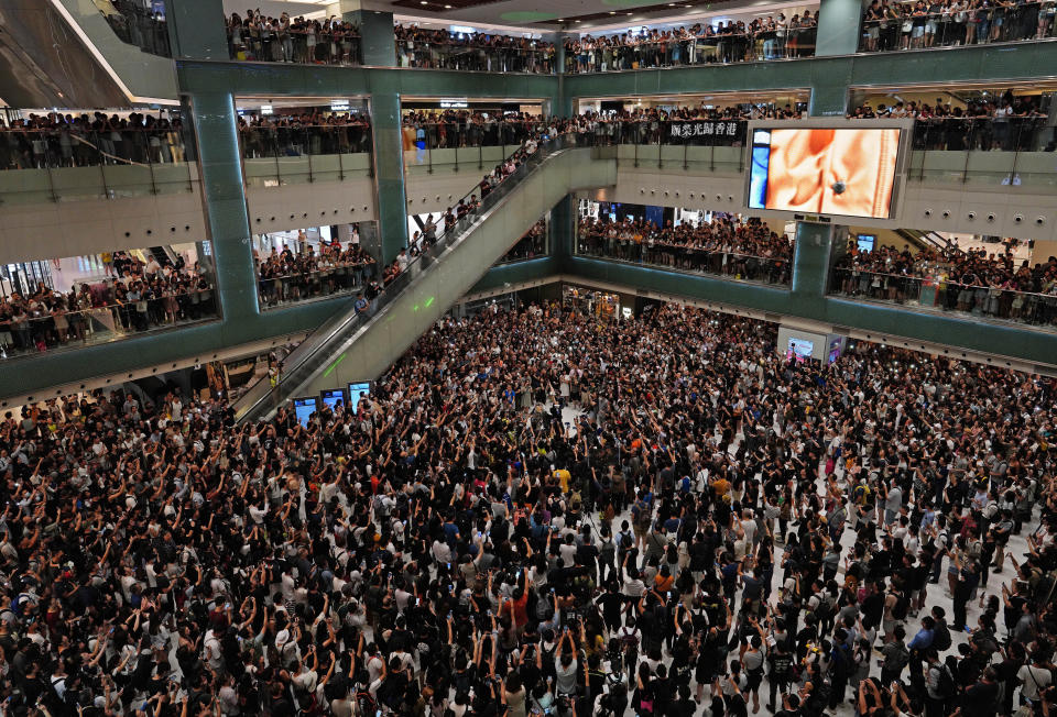
{"label": "crowd on the lowest balcony between the two left green columns", "polygon": [[263,307],[362,289],[374,279],[374,258],[359,243],[340,242],[316,247],[303,241],[302,251],[273,247],[255,256],[258,297]]}

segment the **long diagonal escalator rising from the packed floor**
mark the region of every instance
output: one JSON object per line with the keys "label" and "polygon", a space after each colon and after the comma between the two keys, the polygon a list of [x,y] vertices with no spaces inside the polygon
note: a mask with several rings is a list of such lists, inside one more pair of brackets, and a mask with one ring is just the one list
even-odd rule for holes
{"label": "long diagonal escalator rising from the packed floor", "polygon": [[[541,146],[358,313],[349,305],[283,362],[277,383],[259,380],[235,405],[240,422],[269,418],[286,401],[380,376],[544,213],[569,192],[617,184],[613,147],[566,135]],[[475,189],[476,191],[476,189]]]}

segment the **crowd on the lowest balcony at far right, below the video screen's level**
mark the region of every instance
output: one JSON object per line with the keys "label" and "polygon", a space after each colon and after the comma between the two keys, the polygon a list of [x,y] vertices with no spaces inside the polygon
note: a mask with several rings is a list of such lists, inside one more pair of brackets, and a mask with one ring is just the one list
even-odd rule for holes
{"label": "crowd on the lowest balcony at far right, below the video screen's level", "polygon": [[835,266],[833,290],[1035,324],[1057,323],[1057,257],[1034,266],[987,249],[912,253],[850,247]]}

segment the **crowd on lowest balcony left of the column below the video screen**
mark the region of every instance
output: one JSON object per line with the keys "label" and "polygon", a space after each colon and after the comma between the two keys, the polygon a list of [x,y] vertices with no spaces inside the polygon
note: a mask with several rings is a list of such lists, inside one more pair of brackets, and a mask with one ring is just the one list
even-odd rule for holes
{"label": "crowd on lowest balcony left of the column below the video screen", "polygon": [[760,219],[722,214],[697,224],[674,225],[668,220],[664,227],[630,218],[588,217],[579,223],[577,251],[770,284],[788,284],[793,261],[792,242]]}

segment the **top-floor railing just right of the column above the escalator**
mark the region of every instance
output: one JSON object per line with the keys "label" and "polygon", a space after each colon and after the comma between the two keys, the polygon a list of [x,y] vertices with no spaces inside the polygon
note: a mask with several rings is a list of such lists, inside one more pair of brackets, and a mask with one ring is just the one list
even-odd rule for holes
{"label": "top-floor railing just right of the column above the escalator", "polygon": [[397,40],[396,63],[419,69],[462,69],[488,73],[530,73],[551,75],[555,49],[545,47],[503,47],[461,43],[455,40]]}

